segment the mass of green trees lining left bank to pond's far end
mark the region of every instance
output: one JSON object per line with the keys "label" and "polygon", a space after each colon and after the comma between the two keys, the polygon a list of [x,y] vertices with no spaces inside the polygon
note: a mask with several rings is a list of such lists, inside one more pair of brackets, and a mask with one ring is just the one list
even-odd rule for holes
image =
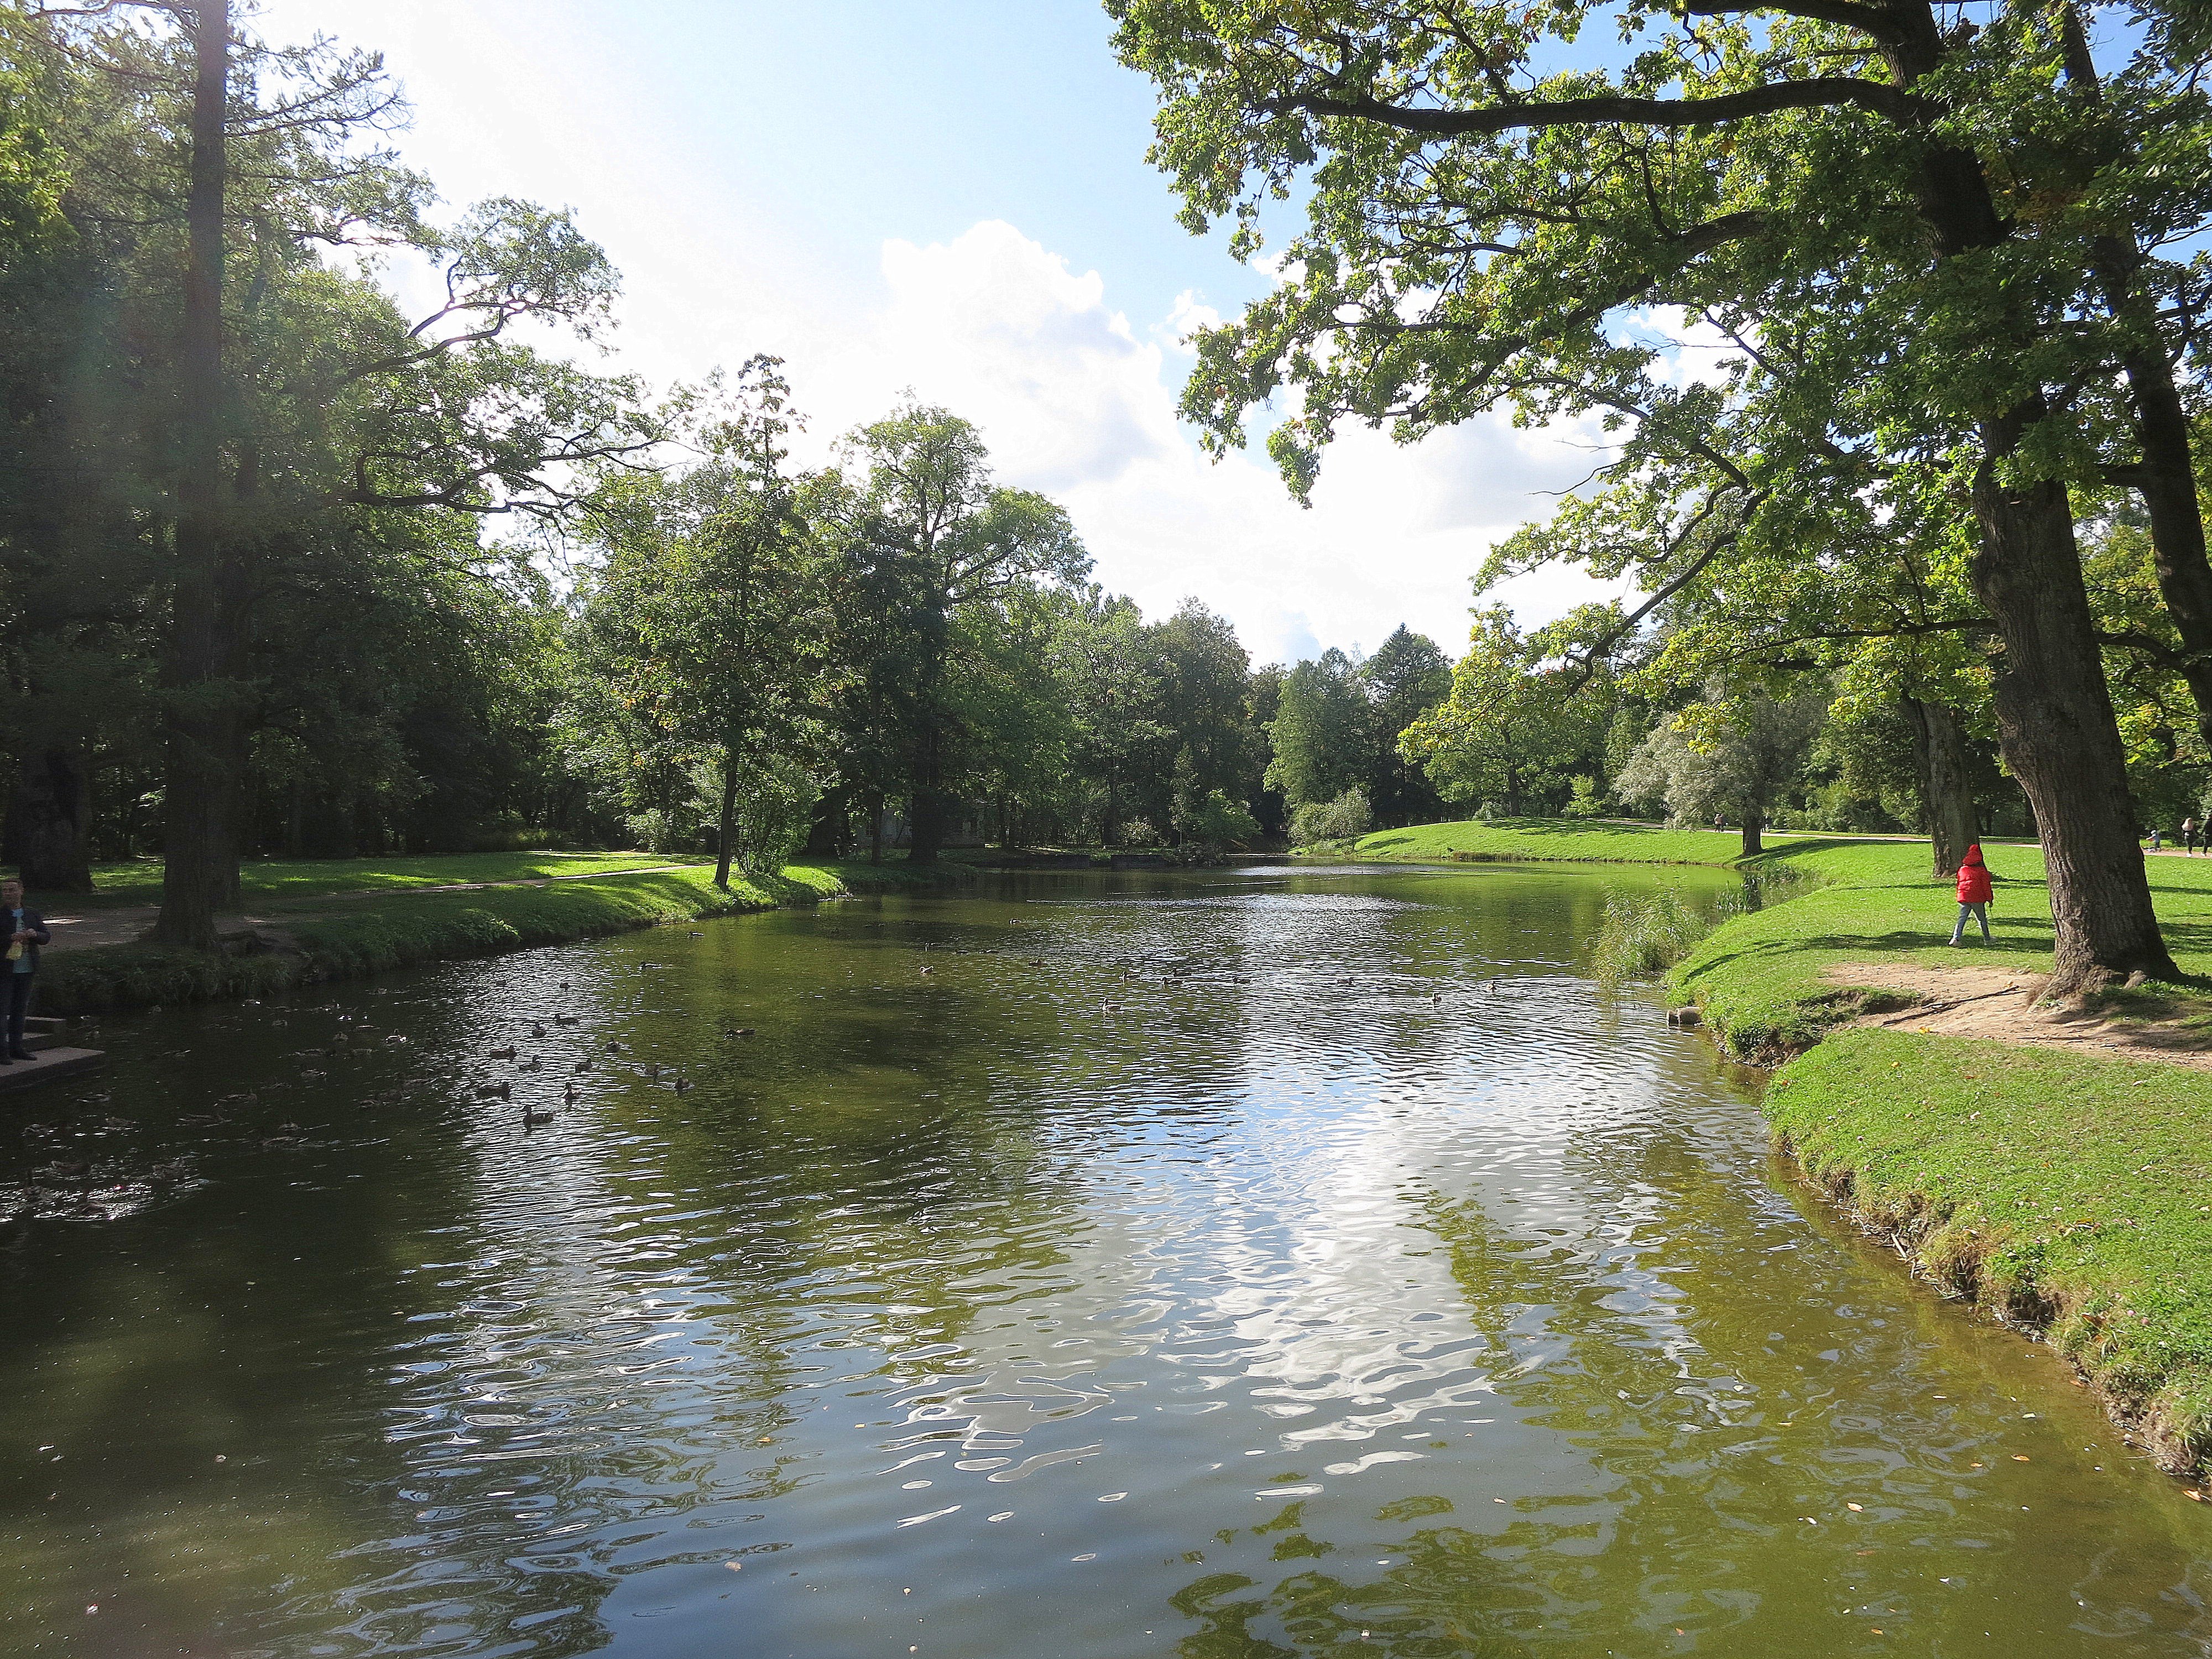
{"label": "mass of green trees lining left bank to pond's far end", "polygon": [[0,7],[0,723],[38,887],[161,854],[164,933],[206,945],[257,854],[759,867],[1438,810],[1396,745],[1431,641],[1254,668],[1203,606],[1093,586],[949,411],[801,471],[772,358],[648,396],[542,349],[606,325],[606,254],[524,201],[436,217],[398,115],[376,58],[223,4]]}

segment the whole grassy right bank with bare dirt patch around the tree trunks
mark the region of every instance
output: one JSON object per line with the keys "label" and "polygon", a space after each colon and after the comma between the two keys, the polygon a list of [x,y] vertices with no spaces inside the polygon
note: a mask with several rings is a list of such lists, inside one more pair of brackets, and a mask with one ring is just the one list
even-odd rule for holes
{"label": "whole grassy right bank with bare dirt patch around the tree trunks", "polygon": [[[1385,830],[1352,858],[1725,865],[1796,896],[1723,920],[1668,975],[1736,1060],[1774,1066],[1776,1144],[1944,1294],[2046,1338],[2166,1469],[2212,1460],[2212,858],[2154,858],[2183,984],[2042,1011],[2044,860],[1984,843],[1995,942],[1949,947],[1924,841],[1506,818]],[[1783,891],[1792,891],[1785,887]],[[1973,1035],[1962,1035],[1973,1033]]]}

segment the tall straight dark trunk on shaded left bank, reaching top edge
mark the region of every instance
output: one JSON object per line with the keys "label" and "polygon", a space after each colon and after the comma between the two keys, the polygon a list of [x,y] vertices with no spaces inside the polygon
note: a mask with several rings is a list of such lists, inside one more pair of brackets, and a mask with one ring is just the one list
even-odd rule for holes
{"label": "tall straight dark trunk on shaded left bank, reaching top edge", "polygon": [[239,891],[237,706],[239,582],[221,522],[223,467],[223,100],[230,82],[230,0],[204,0],[192,20],[192,181],[179,336],[177,580],[170,591],[168,781],[161,827],[161,914],[155,938],[215,947],[215,911]]}

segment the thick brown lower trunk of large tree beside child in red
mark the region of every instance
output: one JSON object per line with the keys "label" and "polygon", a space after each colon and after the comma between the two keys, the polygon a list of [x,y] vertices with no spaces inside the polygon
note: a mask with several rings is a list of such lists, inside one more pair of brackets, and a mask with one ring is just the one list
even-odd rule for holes
{"label": "thick brown lower trunk of large tree beside child in red", "polygon": [[[2011,434],[1984,434],[2002,456]],[[2035,807],[2051,880],[2051,995],[2075,998],[2115,975],[2170,980],[2135,836],[2128,768],[2097,657],[2066,487],[2006,489],[1995,462],[1973,484],[1982,544],[1975,595],[1997,624],[1995,701],[2004,763]]]}

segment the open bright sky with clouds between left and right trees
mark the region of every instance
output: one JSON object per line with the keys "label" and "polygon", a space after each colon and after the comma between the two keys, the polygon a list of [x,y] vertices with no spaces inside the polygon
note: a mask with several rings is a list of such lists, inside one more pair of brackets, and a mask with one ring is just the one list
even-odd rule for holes
{"label": "open bright sky with clouds between left and right trees", "polygon": [[[657,383],[787,358],[810,460],[907,387],[1075,515],[1099,580],[1186,593],[1259,659],[1458,650],[1482,549],[1590,467],[1582,434],[1360,434],[1314,511],[1172,418],[1192,321],[1265,285],[1175,223],[1148,82],[1088,0],[265,0],[254,27],[385,53],[405,157],[456,206],[575,208],[626,279],[615,363]],[[1584,597],[1513,595],[1528,617]]]}

